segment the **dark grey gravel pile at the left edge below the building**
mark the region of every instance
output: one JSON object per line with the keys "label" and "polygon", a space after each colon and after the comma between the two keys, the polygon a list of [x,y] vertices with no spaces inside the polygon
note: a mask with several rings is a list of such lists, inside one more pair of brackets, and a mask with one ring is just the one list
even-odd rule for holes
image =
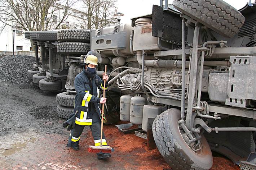
{"label": "dark grey gravel pile at the left edge below the building", "polygon": [[35,57],[27,55],[8,55],[0,58],[0,79],[12,84],[27,84],[31,79],[27,70],[32,69]]}

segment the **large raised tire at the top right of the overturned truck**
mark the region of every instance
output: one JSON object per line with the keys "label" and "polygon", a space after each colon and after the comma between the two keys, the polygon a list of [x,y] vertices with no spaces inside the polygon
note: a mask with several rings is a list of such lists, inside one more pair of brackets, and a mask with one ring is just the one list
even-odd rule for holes
{"label": "large raised tire at the top right of the overturned truck", "polygon": [[222,36],[232,38],[243,26],[244,16],[222,0],[173,0],[180,12]]}

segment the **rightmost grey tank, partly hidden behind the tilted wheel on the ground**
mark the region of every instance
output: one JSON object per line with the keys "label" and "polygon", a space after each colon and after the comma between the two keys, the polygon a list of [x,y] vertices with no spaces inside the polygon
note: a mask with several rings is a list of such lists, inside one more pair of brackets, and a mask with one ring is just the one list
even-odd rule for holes
{"label": "rightmost grey tank, partly hidden behind the tilted wheel on the ground", "polygon": [[145,105],[143,107],[142,130],[147,132],[148,118],[156,118],[156,116],[162,113],[163,107],[164,106],[151,106],[151,105]]}

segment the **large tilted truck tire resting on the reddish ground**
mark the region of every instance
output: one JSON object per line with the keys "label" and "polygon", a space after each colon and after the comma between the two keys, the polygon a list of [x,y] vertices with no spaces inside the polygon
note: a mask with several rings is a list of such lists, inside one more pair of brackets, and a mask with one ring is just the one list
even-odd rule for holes
{"label": "large tilted truck tire resting on the reddish ground", "polygon": [[168,109],[158,115],[153,122],[153,136],[159,152],[173,170],[208,170],[212,167],[212,152],[202,136],[199,146],[194,152],[184,141],[178,121],[181,111]]}

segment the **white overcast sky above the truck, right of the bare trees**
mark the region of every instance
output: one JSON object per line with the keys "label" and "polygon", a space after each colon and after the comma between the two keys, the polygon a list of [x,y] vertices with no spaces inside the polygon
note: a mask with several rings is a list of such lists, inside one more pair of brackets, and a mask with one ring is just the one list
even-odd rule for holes
{"label": "white overcast sky above the truck, right of the bare trees", "polygon": [[[236,9],[243,8],[249,0],[224,0]],[[159,5],[159,0],[118,0],[118,12],[123,13],[120,23],[131,24],[131,18],[151,14],[153,4]],[[169,0],[169,4],[172,0]],[[254,0],[251,0],[254,2]],[[164,3],[164,2],[163,2]]]}

